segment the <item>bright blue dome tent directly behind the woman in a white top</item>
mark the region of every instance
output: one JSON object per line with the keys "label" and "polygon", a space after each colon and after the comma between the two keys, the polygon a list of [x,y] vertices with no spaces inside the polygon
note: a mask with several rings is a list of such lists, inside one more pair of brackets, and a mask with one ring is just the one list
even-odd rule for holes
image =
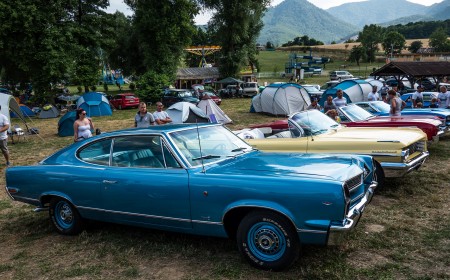
{"label": "bright blue dome tent directly behind the woman in a white top", "polygon": [[78,98],[77,108],[85,110],[89,117],[112,115],[108,99],[99,92],[88,92],[83,94],[83,96]]}

